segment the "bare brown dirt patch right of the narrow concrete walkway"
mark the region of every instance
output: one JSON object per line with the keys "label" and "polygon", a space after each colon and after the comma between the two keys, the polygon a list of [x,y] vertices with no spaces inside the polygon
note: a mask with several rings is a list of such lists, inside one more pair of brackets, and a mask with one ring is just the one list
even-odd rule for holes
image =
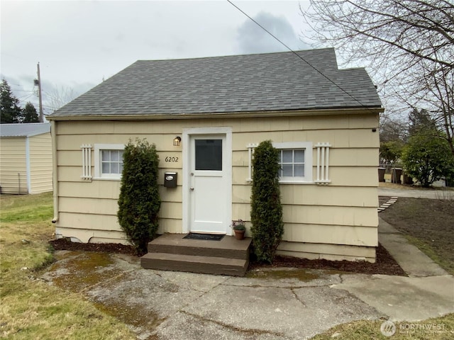
{"label": "bare brown dirt patch right of the narrow concrete walkway", "polygon": [[380,217],[454,273],[454,200],[399,198]]}

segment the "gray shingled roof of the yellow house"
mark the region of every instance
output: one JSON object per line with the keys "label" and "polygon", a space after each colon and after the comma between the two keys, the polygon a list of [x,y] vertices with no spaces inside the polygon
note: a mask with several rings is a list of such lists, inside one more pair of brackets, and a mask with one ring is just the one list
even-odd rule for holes
{"label": "gray shingled roof of the yellow house", "polygon": [[365,69],[338,69],[334,49],[297,53],[306,62],[292,52],[139,60],[50,118],[381,107]]}

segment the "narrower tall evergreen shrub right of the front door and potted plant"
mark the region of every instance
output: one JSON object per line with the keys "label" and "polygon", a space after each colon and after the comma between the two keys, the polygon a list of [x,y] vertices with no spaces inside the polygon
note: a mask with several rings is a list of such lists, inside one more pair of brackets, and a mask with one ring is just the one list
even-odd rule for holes
{"label": "narrower tall evergreen shrub right of the front door and potted plant", "polygon": [[255,148],[250,219],[258,261],[272,263],[284,234],[279,188],[279,153],[270,140]]}

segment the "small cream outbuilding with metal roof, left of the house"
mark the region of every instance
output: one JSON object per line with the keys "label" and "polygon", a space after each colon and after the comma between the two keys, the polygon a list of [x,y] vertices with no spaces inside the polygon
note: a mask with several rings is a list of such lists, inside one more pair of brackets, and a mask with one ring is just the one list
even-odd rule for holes
{"label": "small cream outbuilding with metal roof, left of the house", "polygon": [[1,193],[52,191],[50,123],[0,125]]}

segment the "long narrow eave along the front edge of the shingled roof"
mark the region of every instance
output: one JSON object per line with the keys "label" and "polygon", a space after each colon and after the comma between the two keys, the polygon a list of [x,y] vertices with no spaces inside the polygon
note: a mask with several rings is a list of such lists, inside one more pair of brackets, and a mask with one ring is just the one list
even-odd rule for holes
{"label": "long narrow eave along the front edge of the shingled roof", "polygon": [[213,119],[213,118],[264,118],[291,117],[297,115],[355,115],[378,114],[384,108],[380,106],[362,108],[318,108],[307,110],[221,112],[221,113],[172,113],[172,114],[138,114],[138,115],[56,115],[48,120],[179,120],[179,119]]}

